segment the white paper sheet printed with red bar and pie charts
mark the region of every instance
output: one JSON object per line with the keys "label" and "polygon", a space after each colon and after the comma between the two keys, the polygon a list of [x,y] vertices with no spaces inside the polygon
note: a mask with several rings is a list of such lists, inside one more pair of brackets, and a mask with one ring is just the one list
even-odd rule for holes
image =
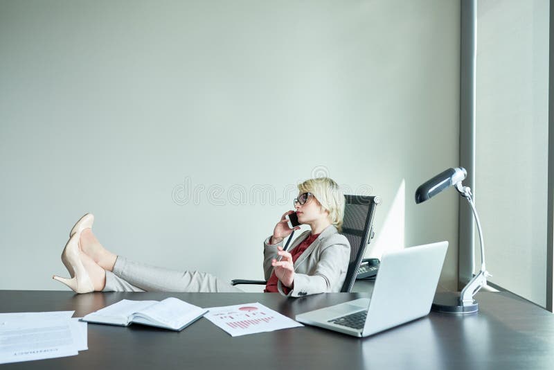
{"label": "white paper sheet printed with red bar and pie charts", "polygon": [[258,302],[207,310],[209,312],[204,317],[233,337],[303,326]]}

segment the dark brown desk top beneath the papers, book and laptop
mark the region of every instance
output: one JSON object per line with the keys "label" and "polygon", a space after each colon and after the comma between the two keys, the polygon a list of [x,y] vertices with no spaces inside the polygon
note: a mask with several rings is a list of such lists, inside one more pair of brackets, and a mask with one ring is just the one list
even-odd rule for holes
{"label": "dark brown desk top beneath the papers, book and laptop", "polygon": [[[0,312],[75,310],[81,317],[120,299],[177,297],[197,306],[260,302],[297,313],[365,297],[263,293],[89,293],[0,290]],[[89,324],[89,350],[77,356],[1,365],[1,369],[552,369],[554,315],[507,292],[477,294],[464,317],[431,312],[357,339],[305,326],[231,337],[207,319],[179,333],[148,326]]]}

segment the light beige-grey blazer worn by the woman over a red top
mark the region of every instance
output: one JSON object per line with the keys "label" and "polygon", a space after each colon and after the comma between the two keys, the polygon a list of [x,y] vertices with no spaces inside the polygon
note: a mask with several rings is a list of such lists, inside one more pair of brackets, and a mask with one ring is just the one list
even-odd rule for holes
{"label": "light beige-grey blazer worn by the woman over a red top", "polygon": [[[308,236],[310,236],[310,230],[298,236],[292,242],[289,251],[296,248]],[[268,280],[273,272],[271,260],[277,258],[277,247],[283,247],[283,241],[271,245],[269,240],[271,236],[264,241],[265,280]],[[329,225],[294,263],[294,289],[289,294],[285,294],[283,285],[279,281],[278,290],[289,297],[340,292],[346,278],[348,263],[350,263],[350,243],[346,236],[339,234],[336,227]]]}

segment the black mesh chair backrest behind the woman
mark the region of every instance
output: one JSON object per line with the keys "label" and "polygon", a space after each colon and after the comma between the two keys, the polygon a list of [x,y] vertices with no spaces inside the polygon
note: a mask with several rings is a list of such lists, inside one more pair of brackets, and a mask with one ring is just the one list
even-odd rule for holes
{"label": "black mesh chair backrest behind the woman", "polygon": [[380,197],[366,195],[344,195],[344,218],[341,234],[350,242],[350,263],[341,292],[350,292],[366,252],[373,238],[373,216],[375,207],[381,203]]}

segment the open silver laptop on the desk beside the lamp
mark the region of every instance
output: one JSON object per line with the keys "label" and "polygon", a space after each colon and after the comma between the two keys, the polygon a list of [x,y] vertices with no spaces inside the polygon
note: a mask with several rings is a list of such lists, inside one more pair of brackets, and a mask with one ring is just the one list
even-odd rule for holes
{"label": "open silver laptop on the desk beside the lamp", "polygon": [[371,298],[296,315],[296,321],[368,337],[429,314],[448,242],[384,254]]}

